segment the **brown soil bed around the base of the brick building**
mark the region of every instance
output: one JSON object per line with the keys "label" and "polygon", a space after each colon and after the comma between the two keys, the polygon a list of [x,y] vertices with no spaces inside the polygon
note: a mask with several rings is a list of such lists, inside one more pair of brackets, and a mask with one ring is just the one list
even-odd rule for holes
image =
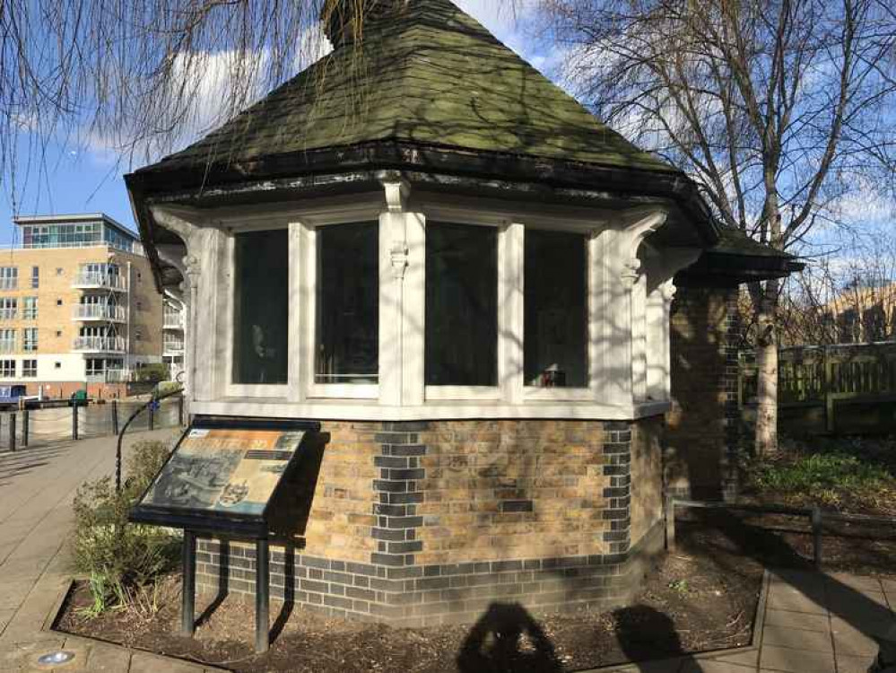
{"label": "brown soil bed around the base of the brick building", "polygon": [[[738,554],[737,545],[718,530],[685,524],[678,549],[648,576],[631,607],[536,616],[535,625],[522,636],[515,634],[510,646],[508,638],[492,632],[483,647],[474,647],[474,625],[393,628],[324,618],[295,607],[279,634],[274,626],[271,650],[256,655],[253,608],[235,599],[217,607],[195,639],[178,636],[180,597],[173,577],[161,585],[161,609],[152,616],[135,609],[95,619],[81,616],[78,608],[89,603],[89,594],[79,584],[57,629],[240,672],[575,671],[748,644],[762,565]],[[206,602],[199,600],[200,609]],[[281,609],[272,605],[273,618]],[[502,614],[528,618],[513,607]]]}

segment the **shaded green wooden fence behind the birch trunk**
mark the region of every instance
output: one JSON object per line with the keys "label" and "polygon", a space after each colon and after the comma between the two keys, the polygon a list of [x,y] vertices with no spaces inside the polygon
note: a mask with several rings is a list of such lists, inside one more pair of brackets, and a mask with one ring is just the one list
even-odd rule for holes
{"label": "shaded green wooden fence behind the birch trunk", "polygon": [[[779,422],[796,433],[896,432],[896,343],[779,350]],[[738,403],[749,419],[756,362],[740,354]]]}

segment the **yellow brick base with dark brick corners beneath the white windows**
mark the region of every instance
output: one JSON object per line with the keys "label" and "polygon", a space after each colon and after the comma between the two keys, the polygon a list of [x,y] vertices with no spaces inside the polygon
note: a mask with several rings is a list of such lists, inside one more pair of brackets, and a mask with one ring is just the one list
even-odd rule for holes
{"label": "yellow brick base with dark brick corners beneath the white windows", "polygon": [[[494,600],[625,603],[662,548],[661,426],[326,423],[317,479],[291,485],[295,503],[313,489],[300,529],[272,544],[272,594],[396,625],[474,620]],[[254,593],[254,556],[200,540],[199,588]]]}

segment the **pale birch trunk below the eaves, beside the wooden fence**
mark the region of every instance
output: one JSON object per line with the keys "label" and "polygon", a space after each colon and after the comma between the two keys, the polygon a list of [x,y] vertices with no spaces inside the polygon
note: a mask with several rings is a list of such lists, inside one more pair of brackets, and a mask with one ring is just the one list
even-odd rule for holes
{"label": "pale birch trunk below the eaves, beside the wooden fence", "polygon": [[777,280],[770,280],[762,293],[757,324],[756,343],[757,395],[756,441],[757,456],[778,450],[778,308]]}

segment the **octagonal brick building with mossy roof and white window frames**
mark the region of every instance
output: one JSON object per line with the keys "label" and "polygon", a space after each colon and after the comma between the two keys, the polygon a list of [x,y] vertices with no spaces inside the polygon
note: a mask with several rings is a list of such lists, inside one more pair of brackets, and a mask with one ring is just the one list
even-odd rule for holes
{"label": "octagonal brick building with mossy roof and white window frames", "polygon": [[[329,55],[126,176],[190,413],[322,424],[274,593],[405,625],[623,603],[664,488],[733,484],[729,308],[795,262],[448,0],[335,8]],[[253,553],[202,540],[200,586],[251,593]]]}

